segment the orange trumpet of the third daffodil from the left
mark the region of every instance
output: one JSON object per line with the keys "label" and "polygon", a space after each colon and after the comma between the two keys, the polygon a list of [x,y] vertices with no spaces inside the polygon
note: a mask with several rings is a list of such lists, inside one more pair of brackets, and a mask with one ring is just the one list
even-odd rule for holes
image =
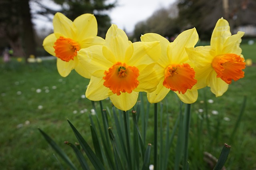
{"label": "orange trumpet of the third daffodil from the left", "polygon": [[195,71],[188,63],[171,64],[164,70],[164,87],[182,94],[191,89],[196,83]]}

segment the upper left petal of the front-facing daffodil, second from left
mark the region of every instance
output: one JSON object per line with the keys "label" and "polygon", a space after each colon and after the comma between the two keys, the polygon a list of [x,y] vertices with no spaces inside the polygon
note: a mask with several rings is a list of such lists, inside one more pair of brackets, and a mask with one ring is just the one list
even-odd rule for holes
{"label": "upper left petal of the front-facing daffodil, second from left", "polygon": [[82,67],[96,77],[103,77],[104,71],[113,65],[102,54],[102,45],[80,49],[77,56]]}

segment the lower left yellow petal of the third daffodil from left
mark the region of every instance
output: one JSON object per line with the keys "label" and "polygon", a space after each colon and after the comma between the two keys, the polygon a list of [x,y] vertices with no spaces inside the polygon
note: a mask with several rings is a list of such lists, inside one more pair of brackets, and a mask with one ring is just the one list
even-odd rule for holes
{"label": "lower left yellow petal of the third daffodil from left", "polygon": [[159,84],[156,86],[156,90],[152,93],[147,93],[149,103],[158,103],[166,97],[170,89],[163,86],[164,78],[162,78]]}

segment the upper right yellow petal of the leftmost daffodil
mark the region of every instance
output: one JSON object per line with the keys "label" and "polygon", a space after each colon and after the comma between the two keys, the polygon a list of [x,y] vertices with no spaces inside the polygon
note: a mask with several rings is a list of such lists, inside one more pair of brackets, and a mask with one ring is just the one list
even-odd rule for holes
{"label": "upper right yellow petal of the leftmost daffodil", "polygon": [[76,39],[78,42],[89,37],[95,37],[98,34],[96,18],[93,14],[83,14],[74,20],[76,26]]}

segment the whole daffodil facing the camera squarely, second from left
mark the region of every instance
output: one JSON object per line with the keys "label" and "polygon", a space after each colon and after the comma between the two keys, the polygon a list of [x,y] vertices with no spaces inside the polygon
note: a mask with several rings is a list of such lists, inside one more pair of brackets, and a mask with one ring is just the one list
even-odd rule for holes
{"label": "whole daffodil facing the camera squarely, second from left", "polygon": [[139,91],[156,89],[159,80],[152,68],[159,54],[159,42],[132,43],[123,30],[112,24],[104,45],[78,51],[78,60],[92,74],[86,97],[92,101],[110,97],[118,109],[131,109]]}

